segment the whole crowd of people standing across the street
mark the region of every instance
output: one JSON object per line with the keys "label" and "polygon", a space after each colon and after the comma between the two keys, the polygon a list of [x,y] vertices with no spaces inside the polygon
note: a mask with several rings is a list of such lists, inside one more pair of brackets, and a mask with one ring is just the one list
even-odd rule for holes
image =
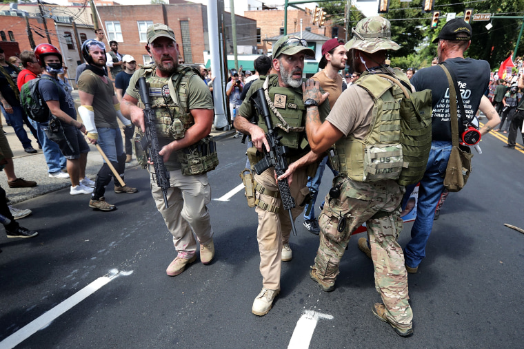
{"label": "whole crowd of people standing across the street", "polygon": [[[105,200],[105,187],[111,180],[114,180],[115,193],[136,193],[137,189],[123,184],[124,168],[125,162],[131,159],[130,140],[143,137],[148,131],[144,93],[148,94],[157,117],[157,123],[151,127],[157,129],[161,147],[155,156],[163,158],[166,173],[155,173],[160,169],[151,162],[150,153],[135,151],[139,164],[150,172],[154,203],[172,234],[176,257],[168,264],[166,274],[183,273],[196,261],[197,255],[203,264],[210,264],[215,250],[208,211],[211,189],[207,172],[214,169],[210,159],[216,156],[216,148],[209,146],[213,141],[208,137],[214,118],[210,71],[203,65],[196,71],[183,64],[174,32],[167,25],[154,24],[148,28],[146,50],[153,64],[139,69],[132,56],[118,52],[118,43],[110,42],[110,51],[106,52],[103,32],[96,34],[97,39],[82,45],[86,63],[77,76],[81,121],[68,87],[59,78],[63,74],[63,62],[57,48],[42,44],[34,52],[21,54],[21,64],[27,70],[23,78],[37,78],[41,74],[39,91],[52,113],[49,123],[56,119],[63,130],[63,138],[55,142],[46,140],[48,132],[35,131],[44,153],[48,154],[50,176],[58,176],[54,173],[59,173],[65,165],[71,181],[70,193],[90,194],[89,207],[101,211],[116,208]],[[374,264],[376,290],[382,300],[372,305],[372,313],[390,324],[398,335],[412,335],[414,315],[407,273],[417,273],[425,257],[425,245],[444,192],[443,169],[452,148],[449,83],[443,66],[461,81],[461,88],[470,92],[463,94],[470,105],[463,118],[472,123],[478,109],[485,114],[488,121],[479,130],[481,134],[495,129],[500,123],[498,112],[501,111],[504,118],[508,110],[512,111],[511,116],[505,117],[511,122],[510,136],[514,123],[515,129],[521,127],[522,130],[524,103],[518,89],[524,89],[523,76],[516,80],[516,89],[510,86],[506,90],[501,87],[505,86],[503,83],[496,83],[492,103],[485,94],[490,91],[489,64],[464,57],[471,38],[472,28],[465,21],[448,21],[434,41],[438,45],[435,64],[416,72],[410,68],[404,73],[387,64],[388,52],[400,48],[391,39],[390,22],[383,17],[367,17],[359,21],[347,43],[339,39],[324,43],[320,71],[310,79],[303,78],[304,60],[305,56],[314,56],[314,51],[305,40],[288,35],[274,43],[271,57],[261,56],[254,61],[254,74],[230,72],[225,92],[232,125],[236,135],[250,138],[246,169],[252,170],[256,161],[271,150],[263,111],[254,103],[261,89],[272,123],[278,124],[279,140],[287,147],[288,166],[283,173],[277,176],[272,167],[253,173],[262,275],[261,292],[252,304],[254,315],[267,314],[279,295],[281,264],[293,257],[289,243],[292,226],[294,220],[303,215],[305,228],[319,235],[310,277],[326,292],[336,286],[339,265],[352,232],[365,223],[367,238],[361,238],[358,246]],[[1,53],[0,66],[3,66]],[[0,72],[12,69],[11,65],[8,67],[8,70],[0,67]],[[114,86],[108,71],[115,79]],[[5,78],[8,84],[1,85],[0,101],[5,111],[14,115],[15,108],[21,108],[13,96],[7,99],[9,91],[14,97],[17,93],[11,86],[12,74]],[[137,88],[142,78],[148,83],[148,91]],[[403,228],[401,211],[410,202],[412,188],[399,184],[397,178],[387,174],[390,171],[378,171],[366,178],[364,152],[386,144],[398,145],[401,121],[396,98],[408,91],[425,89],[432,91],[430,160],[420,182],[412,238],[403,248],[397,242]],[[117,120],[123,124],[125,140]],[[33,126],[35,130],[49,128],[48,123]],[[2,136],[0,131],[2,161],[10,187],[36,185],[14,176],[12,153],[8,145],[5,147]],[[85,177],[88,143],[97,145],[108,159],[94,182]],[[201,150],[202,144],[214,150],[205,153]],[[333,146],[336,152],[330,150]],[[399,156],[396,151],[393,153]],[[316,218],[313,207],[326,165],[335,177]],[[161,174],[169,180],[167,188],[159,184]],[[288,183],[296,202],[289,213],[282,204],[284,193],[279,185],[282,181]],[[3,189],[0,190],[0,215],[7,219],[4,225],[8,237],[37,235],[14,221]]]}

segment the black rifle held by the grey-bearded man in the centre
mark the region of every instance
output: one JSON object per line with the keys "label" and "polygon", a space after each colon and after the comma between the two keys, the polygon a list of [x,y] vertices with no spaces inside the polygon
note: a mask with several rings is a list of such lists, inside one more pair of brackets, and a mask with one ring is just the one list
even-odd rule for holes
{"label": "black rifle held by the grey-bearded man in the centre", "polygon": [[[265,149],[265,145],[262,146],[264,151],[264,157],[262,160],[254,165],[254,171],[256,174],[260,175],[266,169],[274,167],[274,171],[277,177],[280,177],[288,169],[288,147],[282,145],[281,138],[282,136],[276,135],[276,129],[273,129],[271,125],[271,114],[270,109],[268,108],[268,103],[265,101],[264,89],[257,89],[256,92],[251,96],[251,101],[254,103],[259,114],[264,117],[265,126],[268,127],[268,133],[265,134],[265,138],[268,140],[270,145],[270,151],[268,152]],[[296,236],[296,228],[293,222],[293,215],[291,209],[296,207],[296,203],[291,196],[290,184],[288,183],[288,178],[279,180],[279,191],[282,200],[282,205],[284,209],[288,210],[290,213],[291,228],[293,235]]]}

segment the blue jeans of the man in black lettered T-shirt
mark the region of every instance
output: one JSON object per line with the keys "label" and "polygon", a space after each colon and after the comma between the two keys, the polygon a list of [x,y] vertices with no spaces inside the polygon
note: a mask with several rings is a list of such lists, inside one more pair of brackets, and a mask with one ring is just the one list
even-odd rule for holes
{"label": "blue jeans of the man in black lettered T-shirt", "polygon": [[[411,240],[404,248],[405,264],[411,268],[419,266],[425,257],[425,246],[433,228],[436,205],[439,204],[444,191],[444,175],[451,149],[451,142],[439,140],[431,142],[430,158],[427,160],[426,171],[420,182],[419,203],[411,229]],[[414,187],[415,185],[406,187],[403,209]]]}

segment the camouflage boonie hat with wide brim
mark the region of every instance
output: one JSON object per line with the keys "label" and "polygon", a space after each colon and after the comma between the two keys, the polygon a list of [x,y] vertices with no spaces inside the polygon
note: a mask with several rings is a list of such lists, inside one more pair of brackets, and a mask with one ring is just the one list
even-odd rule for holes
{"label": "camouflage boonie hat with wide brim", "polygon": [[353,39],[344,45],[347,51],[356,49],[367,53],[380,50],[399,50],[400,45],[391,40],[391,23],[380,16],[361,19],[351,30]]}

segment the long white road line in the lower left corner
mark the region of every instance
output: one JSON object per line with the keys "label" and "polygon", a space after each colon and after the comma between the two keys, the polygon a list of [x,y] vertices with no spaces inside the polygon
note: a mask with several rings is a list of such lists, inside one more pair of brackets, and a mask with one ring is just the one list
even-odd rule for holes
{"label": "long white road line in the lower left corner", "polygon": [[51,310],[48,310],[48,312],[43,313],[37,317],[37,319],[34,319],[26,326],[23,326],[23,328],[17,330],[17,332],[14,332],[6,339],[3,339],[3,341],[0,341],[0,348],[14,348],[15,346],[18,346],[21,342],[34,335],[34,333],[49,326],[51,322],[54,321],[54,319],[57,319],[60,315],[66,313],[66,311],[82,302],[83,299],[95,293],[115,277],[119,275],[131,274],[132,271],[119,272],[117,269],[112,269],[107,276],[99,277],[98,279],[94,280],[94,282],[88,284],[88,286],[85,286],[77,293],[61,302],[59,305],[55,306]]}

